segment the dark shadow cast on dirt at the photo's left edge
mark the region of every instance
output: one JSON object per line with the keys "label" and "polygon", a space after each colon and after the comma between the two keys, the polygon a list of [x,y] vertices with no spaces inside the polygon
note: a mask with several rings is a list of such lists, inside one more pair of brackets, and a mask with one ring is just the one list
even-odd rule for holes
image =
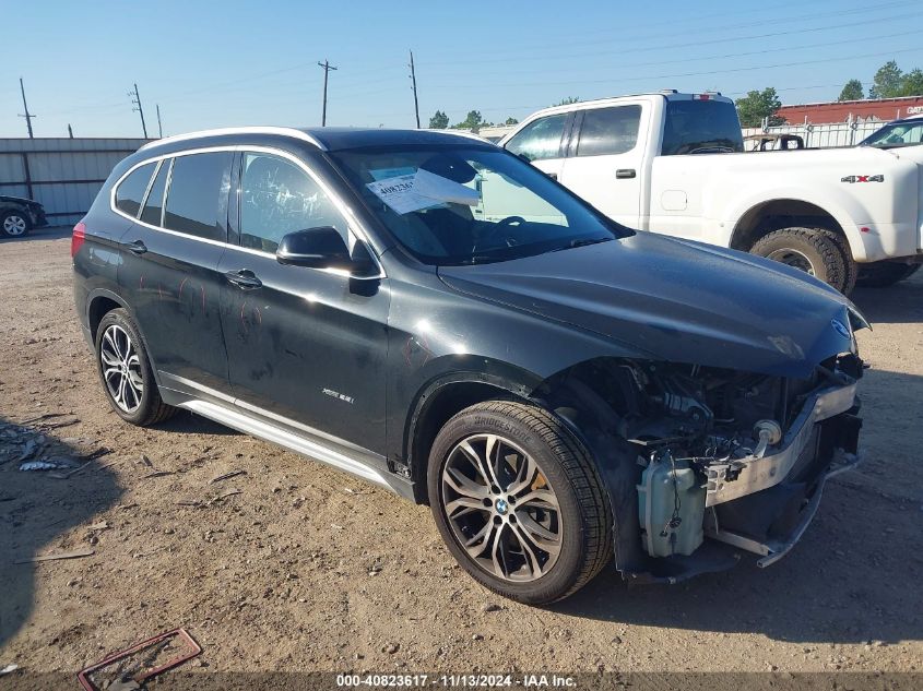
{"label": "dark shadow cast on dirt at the photo's left edge", "polygon": [[[0,430],[13,420],[0,417]],[[64,431],[67,431],[66,428]],[[51,432],[57,442],[55,456],[79,455],[70,444]],[[38,584],[56,571],[60,561],[15,563],[39,555],[90,548],[88,531],[74,531],[93,523],[94,515],[117,504],[122,495],[110,468],[100,467],[114,456],[86,462],[86,467],[68,479],[55,479],[47,472],[19,469],[20,448],[0,438],[0,647],[32,613]],[[36,457],[40,457],[38,454]],[[36,460],[36,458],[32,458]],[[80,561],[98,560],[94,555]],[[52,587],[66,587],[54,583]]]}

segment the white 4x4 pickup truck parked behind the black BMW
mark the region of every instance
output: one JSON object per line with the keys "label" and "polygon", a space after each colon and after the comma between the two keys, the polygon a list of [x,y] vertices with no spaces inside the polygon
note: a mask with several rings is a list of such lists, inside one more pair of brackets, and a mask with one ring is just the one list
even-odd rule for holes
{"label": "white 4x4 pickup truck parked behind the black BMW", "polygon": [[[541,110],[500,142],[631,228],[730,247],[849,294],[923,262],[923,146],[743,153],[734,103],[673,91]],[[485,215],[502,215],[489,209]]]}

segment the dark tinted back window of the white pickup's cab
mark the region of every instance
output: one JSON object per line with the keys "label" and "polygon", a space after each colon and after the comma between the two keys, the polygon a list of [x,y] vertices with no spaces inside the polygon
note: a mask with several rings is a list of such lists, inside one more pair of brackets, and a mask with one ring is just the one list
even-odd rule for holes
{"label": "dark tinted back window of the white pickup's cab", "polygon": [[726,100],[667,100],[663,156],[744,151],[737,109]]}

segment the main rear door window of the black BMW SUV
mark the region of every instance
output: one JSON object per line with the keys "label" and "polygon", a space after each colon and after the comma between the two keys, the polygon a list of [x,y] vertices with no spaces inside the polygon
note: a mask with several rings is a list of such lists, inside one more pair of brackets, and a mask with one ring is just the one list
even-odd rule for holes
{"label": "main rear door window of the black BMW SUV", "polygon": [[164,227],[209,240],[226,240],[227,192],[234,154],[177,156],[173,162]]}

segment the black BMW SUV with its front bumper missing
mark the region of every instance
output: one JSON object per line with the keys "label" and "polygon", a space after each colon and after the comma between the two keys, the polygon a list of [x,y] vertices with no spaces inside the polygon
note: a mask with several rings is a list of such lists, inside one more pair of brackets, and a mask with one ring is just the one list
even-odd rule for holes
{"label": "black BMW SUV with its front bumper missing", "polygon": [[71,251],[125,420],[186,408],[428,503],[469,573],[521,601],[612,562],[636,582],[741,550],[768,565],[857,461],[848,299],[617,226],[473,138],[161,140]]}

